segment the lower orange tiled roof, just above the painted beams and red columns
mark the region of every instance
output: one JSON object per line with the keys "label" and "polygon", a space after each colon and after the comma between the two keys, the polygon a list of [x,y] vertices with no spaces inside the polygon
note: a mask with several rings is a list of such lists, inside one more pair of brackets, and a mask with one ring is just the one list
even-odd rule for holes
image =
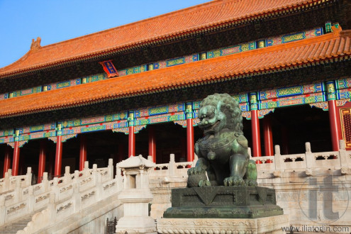
{"label": "lower orange tiled roof, just above the painted beams and red columns", "polygon": [[351,54],[351,30],[0,101],[0,117],[235,79]]}

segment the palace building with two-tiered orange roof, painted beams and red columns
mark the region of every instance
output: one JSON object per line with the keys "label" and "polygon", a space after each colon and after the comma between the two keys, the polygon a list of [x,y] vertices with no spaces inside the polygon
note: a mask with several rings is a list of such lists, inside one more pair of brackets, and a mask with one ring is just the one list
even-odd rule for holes
{"label": "palace building with two-tiered orange roof, painted beams and red columns", "polygon": [[[0,69],[0,174],[194,160],[201,99],[239,103],[251,154],[351,149],[347,0],[214,0],[52,45]],[[2,165],[4,165],[2,167]],[[72,173],[71,172],[71,173]]]}

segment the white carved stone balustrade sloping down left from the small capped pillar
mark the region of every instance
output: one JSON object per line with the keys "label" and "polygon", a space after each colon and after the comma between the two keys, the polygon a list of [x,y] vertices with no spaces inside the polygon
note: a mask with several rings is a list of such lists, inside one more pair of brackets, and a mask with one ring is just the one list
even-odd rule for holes
{"label": "white carved stone balustrade sloping down left from the small capped pillar", "polygon": [[93,169],[87,169],[86,164],[82,172],[65,173],[67,176],[62,177],[62,184],[58,183],[59,179],[55,179],[52,190],[48,192],[48,198],[45,198],[48,200],[47,208],[35,213],[26,228],[17,233],[38,232],[96,202],[117,194],[123,186],[123,175],[121,168],[117,167],[116,172],[116,177],[113,179],[113,165],[110,159],[106,168],[97,169],[96,165],[93,165]]}

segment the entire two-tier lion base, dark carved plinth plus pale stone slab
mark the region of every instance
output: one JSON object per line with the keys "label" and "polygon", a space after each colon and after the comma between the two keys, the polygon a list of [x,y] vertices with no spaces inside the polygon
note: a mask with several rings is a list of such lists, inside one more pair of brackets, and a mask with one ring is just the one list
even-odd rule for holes
{"label": "entire two-tier lion base, dark carved plinth plus pale stone slab", "polygon": [[274,189],[208,186],[172,189],[172,207],[157,219],[158,233],[284,233],[289,216]]}

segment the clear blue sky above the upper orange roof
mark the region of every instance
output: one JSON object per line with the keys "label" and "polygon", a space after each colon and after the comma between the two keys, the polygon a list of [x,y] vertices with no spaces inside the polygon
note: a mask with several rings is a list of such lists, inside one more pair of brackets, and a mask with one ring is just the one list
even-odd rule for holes
{"label": "clear blue sky above the upper orange roof", "polygon": [[77,38],[210,0],[0,0],[0,67],[41,45]]}

